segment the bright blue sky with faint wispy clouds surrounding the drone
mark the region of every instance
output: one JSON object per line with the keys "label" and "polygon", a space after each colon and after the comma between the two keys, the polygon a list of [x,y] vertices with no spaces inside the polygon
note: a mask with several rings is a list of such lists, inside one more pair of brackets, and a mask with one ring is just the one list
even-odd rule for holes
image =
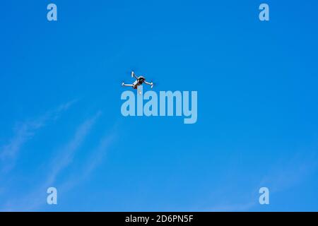
{"label": "bright blue sky with faint wispy clouds surrounding the drone", "polygon": [[[1,2],[0,210],[317,211],[318,3],[265,2]],[[122,117],[131,69],[196,124]]]}

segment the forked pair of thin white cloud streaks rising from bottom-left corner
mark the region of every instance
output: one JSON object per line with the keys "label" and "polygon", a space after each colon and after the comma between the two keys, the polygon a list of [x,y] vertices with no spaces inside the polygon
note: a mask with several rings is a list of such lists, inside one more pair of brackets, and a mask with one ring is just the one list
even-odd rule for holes
{"label": "forked pair of thin white cloud streaks rising from bottom-left corner", "polygon": [[[66,167],[71,165],[73,162],[73,157],[76,155],[76,151],[81,148],[86,137],[93,129],[95,122],[100,117],[101,112],[97,112],[93,117],[86,119],[82,124],[78,126],[73,137],[65,145],[58,150],[58,155],[52,161],[48,162],[49,173],[47,177],[40,182],[40,184],[33,189],[30,194],[26,194],[18,201],[9,200],[6,203],[4,211],[11,210],[23,210],[23,211],[32,211],[37,210],[46,203],[46,191],[50,186],[56,186],[57,178],[63,172]],[[81,174],[81,177],[76,179],[68,180],[64,184],[60,184],[59,191],[67,191],[73,186],[81,182],[83,179],[88,177],[88,175],[93,172],[93,169],[100,164],[102,157],[105,155],[107,147],[112,142],[114,135],[105,136],[101,139],[98,147],[95,148],[93,153],[88,157],[88,163],[83,167],[84,174]]]}

